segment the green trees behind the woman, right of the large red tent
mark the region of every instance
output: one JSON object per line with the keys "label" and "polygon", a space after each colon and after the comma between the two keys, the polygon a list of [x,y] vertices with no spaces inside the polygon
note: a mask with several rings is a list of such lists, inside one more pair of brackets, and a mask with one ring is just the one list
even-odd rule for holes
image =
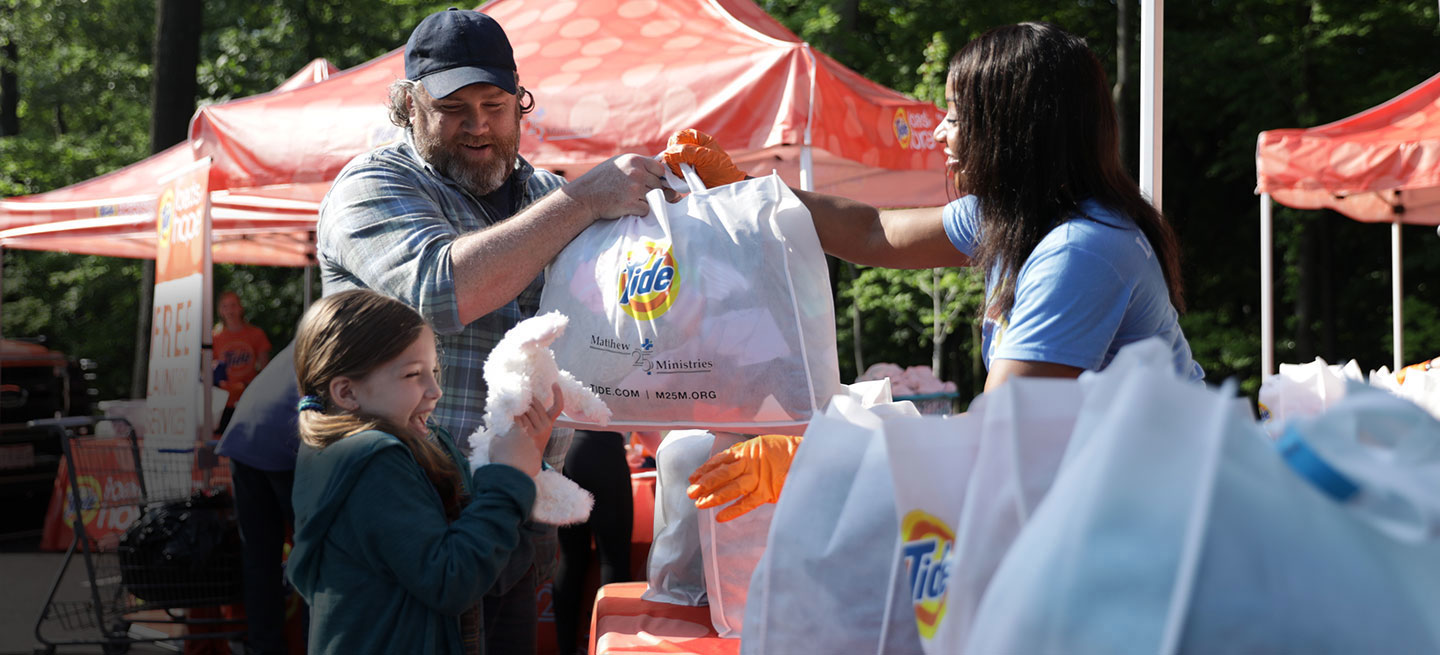
{"label": "green trees behind the woman, right of the large red tent", "polygon": [[[762,4],[819,50],[916,98],[940,99],[943,65],[936,69],[936,62],[948,62],[956,48],[986,29],[1020,20],[1050,20],[1084,36],[1115,76],[1113,1]],[[855,23],[865,29],[847,29],[847,4],[857,9]],[[1185,255],[1189,312],[1181,322],[1212,381],[1240,377],[1251,394],[1260,383],[1257,134],[1345,118],[1434,75],[1440,71],[1436,9],[1418,0],[1166,3],[1164,209]],[[1132,3],[1132,42],[1123,45],[1130,52],[1132,81],[1139,79],[1140,20],[1139,3]],[[1128,160],[1138,161],[1138,82],[1119,109],[1132,134]],[[1279,207],[1276,232],[1276,360],[1354,357],[1367,369],[1388,366],[1388,227],[1333,212]],[[1440,279],[1440,248],[1433,229],[1404,232],[1404,361],[1417,361],[1440,354],[1440,327],[1433,320],[1433,308],[1440,307],[1433,282]],[[890,299],[884,311],[864,314],[876,325],[861,334],[867,345],[886,353],[880,358],[899,361],[886,348],[913,335],[904,325],[919,325],[924,304],[909,298],[904,275],[867,275],[861,284],[878,289],[844,295]],[[840,314],[845,322],[845,311]],[[887,324],[900,327],[890,331]],[[845,351],[845,338],[854,333],[841,333]],[[923,341],[909,343],[914,348],[909,363],[920,361]],[[965,340],[956,345],[975,348]]]}

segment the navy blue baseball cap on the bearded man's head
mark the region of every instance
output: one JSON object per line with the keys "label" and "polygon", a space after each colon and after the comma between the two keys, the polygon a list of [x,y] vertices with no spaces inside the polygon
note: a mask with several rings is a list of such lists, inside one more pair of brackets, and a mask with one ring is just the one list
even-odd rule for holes
{"label": "navy blue baseball cap on the bearded man's head", "polygon": [[480,12],[451,7],[420,20],[405,43],[405,76],[435,98],[488,83],[516,92],[516,55],[500,23]]}

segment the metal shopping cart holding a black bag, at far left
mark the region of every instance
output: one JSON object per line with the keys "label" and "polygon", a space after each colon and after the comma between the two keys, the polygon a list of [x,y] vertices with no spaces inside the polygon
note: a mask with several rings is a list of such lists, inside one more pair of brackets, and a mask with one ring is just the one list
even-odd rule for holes
{"label": "metal shopping cart holding a black bag, at far left", "polygon": [[[111,422],[111,436],[91,435],[102,422]],[[71,645],[99,645],[105,654],[121,654],[137,642],[229,641],[243,635],[243,625],[235,620],[187,618],[184,612],[242,597],[233,504],[228,489],[215,484],[220,476],[213,458],[197,458],[194,448],[143,448],[125,419],[76,416],[32,420],[30,426],[60,436],[65,523],[73,533],[35,623],[35,636],[43,645],[36,654]],[[204,466],[184,466],[189,481],[176,484],[176,461],[187,458]],[[76,553],[85,566],[82,587],[88,597],[59,599]],[[156,625],[161,629],[150,628]],[[176,631],[166,625],[187,629],[171,633]],[[206,632],[193,633],[202,629]],[[65,636],[48,638],[48,632]]]}

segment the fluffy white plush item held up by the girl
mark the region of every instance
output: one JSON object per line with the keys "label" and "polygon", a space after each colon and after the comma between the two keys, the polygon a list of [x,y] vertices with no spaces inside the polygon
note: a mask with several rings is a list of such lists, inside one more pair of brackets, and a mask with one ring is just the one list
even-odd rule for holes
{"label": "fluffy white plush item held up by the girl", "polygon": [[[550,344],[564,333],[570,320],[557,311],[520,321],[505,333],[485,360],[485,417],[484,426],[469,435],[469,469],[490,464],[490,442],[514,425],[516,415],[530,407],[530,399],[540,397],[546,406],[554,402],[552,386],[560,386],[564,413],[586,422],[605,425],[611,409],[585,384],[554,363]],[[530,518],[552,525],[573,525],[590,517],[595,498],[570,478],[553,469],[536,475],[536,504]]]}

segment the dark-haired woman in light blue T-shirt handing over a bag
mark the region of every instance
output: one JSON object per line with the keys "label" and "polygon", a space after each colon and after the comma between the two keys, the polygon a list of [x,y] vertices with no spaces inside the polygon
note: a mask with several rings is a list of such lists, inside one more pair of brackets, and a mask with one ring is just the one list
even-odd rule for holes
{"label": "dark-haired woman in light blue T-shirt handing over a bag", "polygon": [[[1086,42],[1048,23],[992,29],[950,60],[935,128],[959,200],[880,212],[796,191],[825,252],[886,268],[986,271],[985,389],[1012,376],[1076,377],[1133,341],[1161,337],[1176,371],[1204,377],[1178,324],[1185,301],[1175,232],[1120,163],[1104,69]],[[703,134],[665,161],[733,181]]]}

